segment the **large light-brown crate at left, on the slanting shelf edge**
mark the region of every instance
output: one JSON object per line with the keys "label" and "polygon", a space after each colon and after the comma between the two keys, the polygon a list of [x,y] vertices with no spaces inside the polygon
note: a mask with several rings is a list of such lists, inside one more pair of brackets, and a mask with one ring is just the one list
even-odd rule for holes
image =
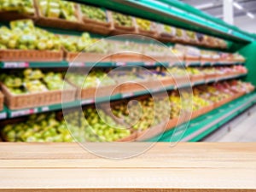
{"label": "large light-brown crate at left, on the slanting shelf edge", "polygon": [[1,84],[4,102],[11,110],[21,108],[35,108],[44,105],[57,104],[62,102],[62,96],[65,102],[72,102],[75,100],[76,89],[71,87],[67,90],[49,90],[38,93],[26,93],[21,95],[12,94],[9,89]]}

